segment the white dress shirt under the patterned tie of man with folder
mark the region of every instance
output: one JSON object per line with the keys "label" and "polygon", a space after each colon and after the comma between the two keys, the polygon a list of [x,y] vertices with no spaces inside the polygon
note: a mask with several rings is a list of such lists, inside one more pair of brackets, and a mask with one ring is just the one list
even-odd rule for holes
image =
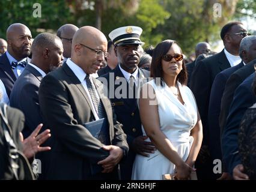
{"label": "white dress shirt under the patterned tie of man with folder", "polygon": [[[87,74],[85,73],[84,70],[82,70],[81,67],[79,67],[78,65],[75,64],[75,62],[71,61],[70,58],[67,59],[67,65],[69,66],[69,68],[73,71],[73,73],[75,74],[76,77],[78,77],[79,81],[82,83],[82,86],[84,87],[85,89],[85,92],[87,93],[88,95],[88,98],[90,99],[90,103],[91,103],[91,106],[94,106],[93,104],[93,100],[91,100],[91,95],[90,95],[90,92],[88,91],[88,88],[87,88],[87,83],[85,81],[85,77],[87,76]],[[91,76],[90,76],[90,80],[91,80],[91,83],[93,83],[93,80],[91,79]],[[98,92],[96,91],[96,97],[100,99],[99,97],[99,94]],[[96,120],[99,120],[99,116],[95,110],[95,108],[93,107],[93,115],[94,115],[94,118]]]}

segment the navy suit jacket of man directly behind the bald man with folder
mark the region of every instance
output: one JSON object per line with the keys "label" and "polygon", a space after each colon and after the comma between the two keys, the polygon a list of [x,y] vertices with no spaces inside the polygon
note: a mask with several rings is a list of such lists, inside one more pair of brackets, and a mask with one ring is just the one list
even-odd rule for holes
{"label": "navy suit jacket of man directly behind the bald man with folder", "polygon": [[43,76],[28,64],[11,91],[10,106],[20,109],[25,115],[25,127],[22,131],[25,138],[43,122],[38,102],[38,89],[42,79]]}

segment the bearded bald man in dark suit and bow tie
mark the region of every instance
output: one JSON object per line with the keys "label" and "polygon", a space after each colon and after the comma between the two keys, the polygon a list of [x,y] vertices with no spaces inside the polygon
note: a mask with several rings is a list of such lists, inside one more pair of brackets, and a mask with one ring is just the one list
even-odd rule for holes
{"label": "bearded bald man in dark suit and bow tie", "polygon": [[31,32],[21,23],[14,23],[7,29],[7,52],[0,57],[0,79],[8,97],[14,82],[20,76],[31,53]]}

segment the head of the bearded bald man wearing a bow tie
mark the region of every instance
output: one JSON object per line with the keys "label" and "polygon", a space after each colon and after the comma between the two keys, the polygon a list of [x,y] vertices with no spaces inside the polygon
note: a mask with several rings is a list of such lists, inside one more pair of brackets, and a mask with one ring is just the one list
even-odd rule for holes
{"label": "head of the bearded bald man wearing a bow tie", "polygon": [[31,31],[22,23],[10,25],[6,32],[7,50],[17,61],[26,58],[31,53]]}

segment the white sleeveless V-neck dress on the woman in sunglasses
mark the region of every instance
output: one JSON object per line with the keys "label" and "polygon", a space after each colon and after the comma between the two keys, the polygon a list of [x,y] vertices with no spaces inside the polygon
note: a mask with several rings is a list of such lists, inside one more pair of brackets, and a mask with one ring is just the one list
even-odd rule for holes
{"label": "white sleeveless V-neck dress on the woman in sunglasses", "polygon": [[[156,86],[154,80],[148,83],[156,92],[160,130],[177,149],[180,157],[186,161],[193,143],[190,130],[197,123],[197,104],[194,95],[187,86],[182,86],[178,82],[178,88],[184,101],[183,105],[166,84],[163,87]],[[143,126],[142,133],[146,135]],[[149,155],[150,157],[136,155],[133,163],[133,180],[160,180],[163,174],[174,173],[175,165],[158,150]]]}

